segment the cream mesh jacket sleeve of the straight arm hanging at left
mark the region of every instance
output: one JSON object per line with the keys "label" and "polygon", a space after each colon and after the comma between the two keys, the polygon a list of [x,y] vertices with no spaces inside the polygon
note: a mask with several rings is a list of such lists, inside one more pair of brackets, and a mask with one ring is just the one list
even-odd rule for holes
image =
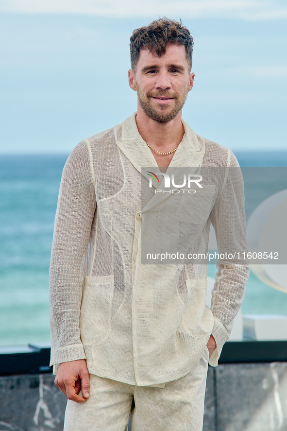
{"label": "cream mesh jacket sleeve of the straight arm hanging at left", "polygon": [[79,316],[91,224],[95,178],[88,142],[80,142],[64,167],[50,266],[51,365],[86,359]]}

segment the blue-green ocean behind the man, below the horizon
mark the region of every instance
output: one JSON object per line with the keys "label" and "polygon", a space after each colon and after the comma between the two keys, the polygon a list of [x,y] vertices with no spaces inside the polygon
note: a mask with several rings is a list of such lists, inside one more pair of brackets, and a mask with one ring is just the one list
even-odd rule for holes
{"label": "blue-green ocean behind the man, below the horizon", "polygon": [[[287,152],[235,154],[242,167],[287,167]],[[67,156],[0,155],[0,346],[50,342],[49,263]],[[208,275],[215,271],[208,265]],[[287,315],[287,293],[251,274],[241,310]]]}

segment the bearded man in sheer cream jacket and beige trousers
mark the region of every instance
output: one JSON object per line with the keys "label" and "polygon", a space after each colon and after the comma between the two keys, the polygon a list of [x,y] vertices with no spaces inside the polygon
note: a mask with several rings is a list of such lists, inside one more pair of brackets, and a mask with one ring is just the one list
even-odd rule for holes
{"label": "bearded man in sheer cream jacket and beige trousers", "polygon": [[[135,30],[130,47],[136,114],[80,142],[63,172],[51,256],[51,364],[68,397],[65,431],[124,431],[133,401],[135,431],[200,431],[207,364],[217,365],[248,277],[240,259],[242,182],[230,150],[182,120],[194,81],[186,27],[158,19]],[[164,214],[158,208],[167,203],[182,205],[174,192],[181,190],[159,198],[148,175],[158,180],[178,167],[192,167],[186,172],[198,190],[184,211],[168,206]],[[206,260],[142,263],[141,240],[157,235],[152,214],[158,230],[164,226],[160,238],[170,228],[169,243],[191,226],[186,251],[191,243],[206,249],[212,221],[219,252],[239,253],[218,261],[212,311]]]}

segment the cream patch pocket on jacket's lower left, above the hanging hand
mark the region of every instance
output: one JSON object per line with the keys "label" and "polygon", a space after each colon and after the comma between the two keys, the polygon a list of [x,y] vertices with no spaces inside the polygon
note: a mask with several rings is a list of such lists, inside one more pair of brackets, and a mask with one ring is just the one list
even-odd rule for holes
{"label": "cream patch pocket on jacket's lower left, above the hanging hand", "polygon": [[99,345],[111,331],[114,276],[84,277],[80,313],[84,345]]}

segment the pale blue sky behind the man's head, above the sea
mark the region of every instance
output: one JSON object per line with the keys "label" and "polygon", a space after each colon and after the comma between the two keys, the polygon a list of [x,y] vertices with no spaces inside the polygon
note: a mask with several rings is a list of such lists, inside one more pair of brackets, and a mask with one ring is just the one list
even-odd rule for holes
{"label": "pale blue sky behind the man's head, above the sea", "polygon": [[129,37],[158,15],[194,36],[190,126],[235,151],[287,150],[285,4],[0,1],[0,152],[69,153],[131,115]]}

